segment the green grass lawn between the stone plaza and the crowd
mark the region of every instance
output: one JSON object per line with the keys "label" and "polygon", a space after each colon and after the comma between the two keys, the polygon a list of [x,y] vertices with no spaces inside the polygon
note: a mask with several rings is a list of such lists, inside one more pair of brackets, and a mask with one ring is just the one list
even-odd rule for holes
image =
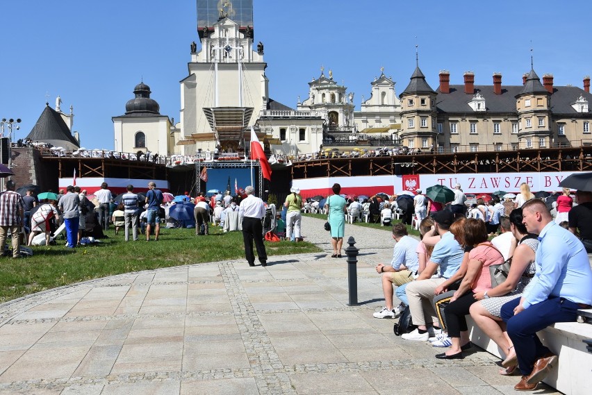
{"label": "green grass lawn between the stone plaza and the crowd", "polygon": [[[107,235],[108,239],[94,246],[67,250],[65,241],[58,239],[56,246],[33,246],[29,258],[0,258],[0,303],[131,271],[245,258],[242,233],[222,233],[220,228],[210,228],[210,235],[199,237],[195,236],[195,228],[163,228],[158,242],[146,242],[141,234],[138,242],[125,242],[123,228],[115,235],[113,226]],[[320,251],[309,242],[289,241],[265,242],[265,249],[269,256]]]}

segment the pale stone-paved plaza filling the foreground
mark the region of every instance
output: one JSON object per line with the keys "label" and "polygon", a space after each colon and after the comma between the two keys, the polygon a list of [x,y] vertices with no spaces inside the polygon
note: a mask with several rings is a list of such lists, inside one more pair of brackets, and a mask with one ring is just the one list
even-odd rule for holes
{"label": "pale stone-paved plaza filling the foreground", "polygon": [[[305,240],[331,251],[324,221],[302,222]],[[353,225],[346,235],[360,249],[358,306],[345,258],[330,253],[142,271],[0,305],[0,394],[516,394],[498,358],[474,348],[436,360],[442,348],[373,318],[384,305],[374,267],[393,239]]]}

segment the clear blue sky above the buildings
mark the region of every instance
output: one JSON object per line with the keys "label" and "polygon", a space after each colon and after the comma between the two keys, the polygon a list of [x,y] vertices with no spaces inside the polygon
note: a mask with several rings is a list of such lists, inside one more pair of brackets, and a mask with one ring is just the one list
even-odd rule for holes
{"label": "clear blue sky above the buildings", "polygon": [[[404,90],[416,42],[434,89],[441,69],[452,84],[471,70],[476,84],[501,72],[504,85],[518,85],[531,47],[538,76],[582,87],[592,74],[591,13],[591,1],[254,0],[254,31],[272,99],[295,108],[324,65],[359,110],[380,67]],[[0,118],[22,119],[14,140],[59,94],[66,112],[74,106],[81,144],[113,149],[111,117],[124,114],[142,78],[161,114],[179,120],[179,81],[199,42],[195,0],[3,1],[2,15]]]}

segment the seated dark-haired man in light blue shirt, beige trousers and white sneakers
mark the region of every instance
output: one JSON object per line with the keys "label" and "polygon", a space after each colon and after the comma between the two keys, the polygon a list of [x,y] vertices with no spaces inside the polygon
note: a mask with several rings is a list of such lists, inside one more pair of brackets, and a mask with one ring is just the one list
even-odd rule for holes
{"label": "seated dark-haired man in light blue shirt, beige trousers and white sneakers", "polygon": [[[413,323],[418,326],[413,332],[402,335],[402,338],[406,340],[425,342],[429,339],[430,334],[427,329],[426,317],[431,319],[434,326],[431,335],[435,336],[441,333],[438,317],[436,317],[436,312],[431,306],[432,299],[434,299],[434,289],[450,278],[461,267],[463,261],[464,251],[459,242],[454,239],[454,235],[449,231],[454,222],[454,214],[448,210],[441,210],[434,212],[432,218],[436,223],[434,230],[440,235],[441,239],[434,246],[434,251],[431,253],[424,271],[416,281],[407,285],[405,290],[407,299],[409,299]],[[438,269],[440,269],[440,277],[432,278]]]}

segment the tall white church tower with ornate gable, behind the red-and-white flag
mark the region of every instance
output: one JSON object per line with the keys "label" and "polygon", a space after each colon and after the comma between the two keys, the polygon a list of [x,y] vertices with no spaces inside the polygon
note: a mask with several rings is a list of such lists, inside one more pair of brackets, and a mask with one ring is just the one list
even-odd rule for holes
{"label": "tall white church tower with ornate gable, behind the red-and-white flag", "polygon": [[[198,149],[236,152],[248,126],[268,106],[263,43],[254,43],[252,0],[197,2],[201,49],[190,45],[181,81],[181,137],[186,155]],[[247,144],[248,145],[248,144]]]}

